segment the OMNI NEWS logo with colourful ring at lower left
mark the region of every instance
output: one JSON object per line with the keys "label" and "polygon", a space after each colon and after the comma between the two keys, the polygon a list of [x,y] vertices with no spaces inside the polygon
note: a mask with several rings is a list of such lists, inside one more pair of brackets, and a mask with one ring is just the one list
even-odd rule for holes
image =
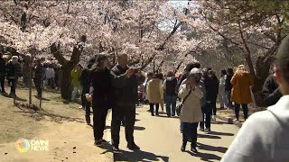
{"label": "OMNI NEWS logo with colourful ring at lower left", "polygon": [[42,140],[42,139],[18,139],[15,143],[15,148],[19,152],[27,152],[28,150],[33,151],[47,151],[49,150],[49,140]]}

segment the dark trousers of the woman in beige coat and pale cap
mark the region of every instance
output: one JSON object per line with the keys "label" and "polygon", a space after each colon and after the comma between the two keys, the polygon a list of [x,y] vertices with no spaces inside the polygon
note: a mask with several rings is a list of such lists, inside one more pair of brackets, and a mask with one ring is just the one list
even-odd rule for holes
{"label": "dark trousers of the woman in beige coat and pale cap", "polygon": [[199,122],[182,122],[182,142],[191,141],[192,146],[196,146],[198,138],[198,124]]}

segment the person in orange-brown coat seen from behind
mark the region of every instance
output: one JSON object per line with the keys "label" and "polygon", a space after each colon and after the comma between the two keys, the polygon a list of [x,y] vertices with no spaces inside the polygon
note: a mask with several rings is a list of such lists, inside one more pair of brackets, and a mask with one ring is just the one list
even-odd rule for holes
{"label": "person in orange-brown coat seen from behind", "polygon": [[238,113],[240,105],[242,105],[244,119],[246,121],[248,113],[247,104],[253,102],[250,89],[250,86],[253,85],[253,79],[244,65],[238,66],[236,73],[232,77],[231,84],[233,85],[232,101],[235,103],[235,120],[239,120]]}

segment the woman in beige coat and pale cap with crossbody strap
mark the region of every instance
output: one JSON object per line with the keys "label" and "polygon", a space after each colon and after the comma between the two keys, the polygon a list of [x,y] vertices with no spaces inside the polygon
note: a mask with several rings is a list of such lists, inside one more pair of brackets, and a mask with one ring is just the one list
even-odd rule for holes
{"label": "woman in beige coat and pale cap with crossbody strap", "polygon": [[191,141],[191,151],[197,153],[197,129],[199,121],[202,121],[200,99],[203,94],[196,85],[195,77],[190,75],[185,84],[180,86],[179,97],[183,103],[180,120],[182,121],[182,151],[185,151],[188,141]]}

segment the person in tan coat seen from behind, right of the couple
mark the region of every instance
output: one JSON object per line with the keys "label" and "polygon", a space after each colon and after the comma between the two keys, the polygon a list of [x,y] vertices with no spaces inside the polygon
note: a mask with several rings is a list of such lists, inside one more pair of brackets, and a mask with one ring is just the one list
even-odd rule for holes
{"label": "person in tan coat seen from behind, right of the couple", "polygon": [[155,115],[159,116],[160,103],[163,103],[163,82],[160,76],[160,74],[154,74],[154,78],[147,85],[147,98],[150,103],[152,116],[154,116],[154,105]]}

